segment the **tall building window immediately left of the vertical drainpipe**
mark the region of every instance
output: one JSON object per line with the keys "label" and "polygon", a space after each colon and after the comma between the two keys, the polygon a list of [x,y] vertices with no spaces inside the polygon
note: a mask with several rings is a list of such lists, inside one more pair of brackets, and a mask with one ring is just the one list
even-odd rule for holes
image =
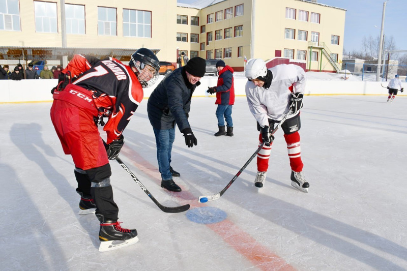
{"label": "tall building window immediately left of the vertical drainpipe", "polygon": [[[9,1],[7,1],[8,3]],[[2,3],[0,1],[0,3]],[[34,1],[35,31],[57,33],[56,3]]]}

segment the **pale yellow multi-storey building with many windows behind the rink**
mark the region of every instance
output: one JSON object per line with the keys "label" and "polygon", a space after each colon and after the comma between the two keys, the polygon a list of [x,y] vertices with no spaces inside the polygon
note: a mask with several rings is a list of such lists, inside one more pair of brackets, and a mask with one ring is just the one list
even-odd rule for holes
{"label": "pale yellow multi-storey building with many windows behind the rink", "polygon": [[[0,47],[63,47],[61,1],[4,2]],[[66,0],[66,47],[147,47],[173,63],[185,52],[222,58],[237,71],[245,56],[285,57],[307,70],[334,72],[342,58],[345,10],[314,2]]]}

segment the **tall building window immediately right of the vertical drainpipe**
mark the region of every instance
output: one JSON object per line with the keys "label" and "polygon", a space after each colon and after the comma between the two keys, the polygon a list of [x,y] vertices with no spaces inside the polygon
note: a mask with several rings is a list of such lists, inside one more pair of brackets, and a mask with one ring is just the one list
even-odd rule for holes
{"label": "tall building window immediately right of the vertical drainpipe", "polygon": [[65,4],[67,34],[85,34],[85,6]]}

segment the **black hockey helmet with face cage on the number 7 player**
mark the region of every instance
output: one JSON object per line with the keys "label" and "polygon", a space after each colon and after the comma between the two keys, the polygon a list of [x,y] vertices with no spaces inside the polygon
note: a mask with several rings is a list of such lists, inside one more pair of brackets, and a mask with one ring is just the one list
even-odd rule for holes
{"label": "black hockey helmet with face cage on the number 7 player", "polygon": [[[157,56],[151,50],[147,48],[140,48],[135,51],[131,55],[129,65],[138,71],[137,78],[143,88],[152,86],[157,81],[160,71],[160,62],[158,61]],[[143,76],[140,76],[143,74],[142,71],[147,65],[151,67],[150,70],[153,73],[153,77],[148,80],[146,80],[147,78],[142,78]]]}

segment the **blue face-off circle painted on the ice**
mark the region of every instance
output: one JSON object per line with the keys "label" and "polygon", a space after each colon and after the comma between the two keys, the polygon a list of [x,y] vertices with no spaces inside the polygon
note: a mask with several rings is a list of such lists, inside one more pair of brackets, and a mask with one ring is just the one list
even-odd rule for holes
{"label": "blue face-off circle painted on the ice", "polygon": [[187,218],[199,224],[214,224],[226,219],[226,213],[215,207],[197,207],[188,210]]}

